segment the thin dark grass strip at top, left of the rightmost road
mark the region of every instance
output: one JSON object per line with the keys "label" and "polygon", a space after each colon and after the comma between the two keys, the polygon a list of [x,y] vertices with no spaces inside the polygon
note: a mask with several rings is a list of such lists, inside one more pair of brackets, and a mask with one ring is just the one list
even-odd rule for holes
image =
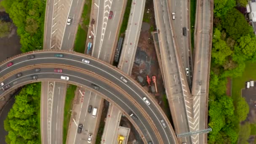
{"label": "thin dark grass strip at top, left of the rightmost road", "polygon": [[191,49],[194,49],[194,31],[195,31],[195,12],[196,12],[197,0],[190,0],[190,37],[191,37]]}

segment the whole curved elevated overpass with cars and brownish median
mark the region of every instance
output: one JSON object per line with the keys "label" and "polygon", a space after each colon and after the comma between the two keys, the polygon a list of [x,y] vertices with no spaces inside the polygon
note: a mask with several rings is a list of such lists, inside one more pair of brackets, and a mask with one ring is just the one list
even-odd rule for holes
{"label": "whole curved elevated overpass with cars and brownish median", "polygon": [[[163,143],[163,141],[165,144],[177,143],[171,124],[168,122],[167,117],[158,106],[157,102],[148,97],[148,93],[144,91],[141,86],[137,85],[134,80],[129,78],[129,76],[125,75],[123,72],[120,72],[117,68],[112,67],[103,61],[97,61],[92,57],[80,53],[69,53],[67,51],[58,52],[64,54],[63,58],[54,57],[56,51],[37,51],[34,53],[35,59],[27,60],[27,55],[32,53],[33,52],[24,53],[2,62],[0,64],[2,70],[0,72],[0,80],[4,81],[6,84],[10,84],[11,89],[42,80],[64,82],[60,79],[61,75],[69,76],[70,80],[66,82],[79,86],[83,85],[91,88],[91,83],[95,83],[100,86],[99,91],[94,91],[92,88],[90,90],[105,96],[114,94],[117,99],[114,99],[113,97],[104,98],[111,101],[113,104],[117,104],[125,114],[132,110],[139,116],[139,120],[136,120],[135,123],[133,120],[131,121],[133,124],[139,126],[139,133],[145,138],[145,142],[153,141],[155,144]],[[81,61],[83,58],[90,60],[90,64],[83,63]],[[13,61],[14,65],[6,67],[6,64],[10,61]],[[68,66],[67,64],[72,64],[72,66]],[[36,74],[38,75],[38,80],[31,80],[31,75],[35,75],[35,72],[32,70],[35,67],[40,67],[41,71]],[[53,68],[55,67],[64,69],[64,73],[54,73]],[[22,72],[23,76],[16,78],[15,74],[18,72]],[[128,83],[123,83],[123,81],[120,80],[120,76],[122,75],[129,80]],[[0,96],[3,96],[6,92],[8,91],[1,90]],[[151,101],[149,106],[142,100],[143,96],[147,96],[149,101]],[[136,105],[134,109],[126,109],[125,111],[123,108],[125,106],[132,107],[134,105]],[[128,118],[130,119],[130,117]],[[167,128],[163,128],[160,119],[164,119],[165,123],[168,125]]]}

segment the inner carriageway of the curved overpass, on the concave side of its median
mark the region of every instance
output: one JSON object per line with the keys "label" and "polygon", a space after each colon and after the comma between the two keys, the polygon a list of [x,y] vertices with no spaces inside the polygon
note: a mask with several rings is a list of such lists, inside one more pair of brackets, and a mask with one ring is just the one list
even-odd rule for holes
{"label": "inner carriageway of the curved overpass, on the concave side of its median", "polygon": [[[45,69],[47,70],[47,68]],[[65,70],[66,72],[68,70]],[[111,85],[109,85],[108,83],[104,83],[101,80],[98,80],[95,77],[91,77],[90,75],[84,75],[80,73],[80,77],[74,76],[73,74],[75,74],[72,70],[69,70],[69,72],[71,75],[65,74],[67,76],[69,76],[69,81],[73,82],[73,83],[77,83],[77,84],[82,84],[85,87],[89,87],[92,88],[91,83],[96,83],[99,84],[101,83],[101,86],[99,88],[99,93],[101,93],[101,95],[107,96],[109,99],[111,99],[112,101],[115,101],[116,104],[118,104],[119,106],[122,107],[122,109],[129,113],[131,111],[133,111],[136,115],[138,115],[139,120],[136,120],[136,124],[139,126],[140,130],[142,131],[142,133],[145,136],[145,139],[147,139],[147,141],[153,141],[154,143],[158,143],[157,137],[155,135],[152,135],[152,133],[154,133],[154,131],[151,128],[151,125],[148,123],[147,118],[143,117],[143,115],[140,112],[140,109],[137,109],[137,107],[134,105],[134,102],[130,101],[129,99],[126,98],[126,96],[124,96],[122,93],[120,93],[119,91],[117,91],[115,88],[112,88]],[[18,78],[18,79],[10,79],[10,80],[6,80],[8,83],[10,83],[11,86],[15,86],[19,83],[24,83],[27,81],[34,81],[35,80],[31,80],[31,71],[24,71],[24,76]],[[58,80],[60,81],[60,76],[62,74],[59,73],[51,73],[51,72],[40,72],[40,75],[38,75],[38,80],[40,79],[45,79],[45,78],[50,78],[53,80]],[[76,74],[75,74],[76,75]],[[84,77],[84,78],[81,78]],[[13,85],[13,82],[16,81],[17,83],[15,83]],[[63,81],[63,80],[61,80]],[[65,80],[64,80],[65,81]],[[3,94],[3,91],[1,91],[1,94]],[[149,136],[147,136],[147,134],[150,134]],[[163,141],[165,141],[165,139],[163,139]]]}

